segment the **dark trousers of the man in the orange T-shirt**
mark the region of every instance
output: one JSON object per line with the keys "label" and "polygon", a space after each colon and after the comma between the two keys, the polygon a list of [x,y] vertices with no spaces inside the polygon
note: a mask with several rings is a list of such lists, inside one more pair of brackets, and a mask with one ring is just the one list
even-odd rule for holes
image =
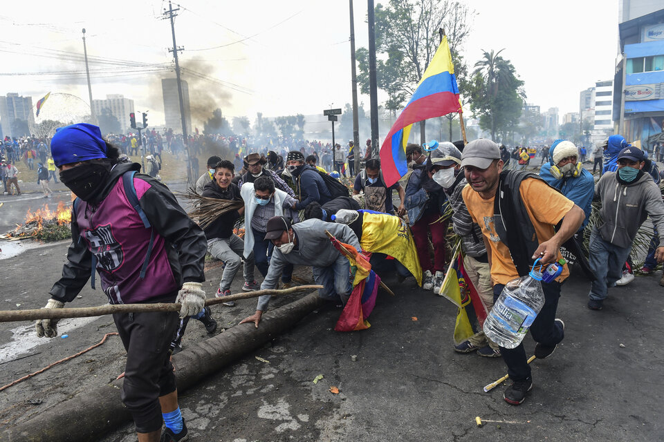
{"label": "dark trousers of the man in the orange T-shirt", "polygon": [[[537,343],[553,347],[562,341],[565,334],[560,323],[555,323],[555,311],[558,307],[558,298],[560,298],[560,282],[551,282],[549,284],[542,283],[542,290],[544,291],[544,306],[537,318],[531,325],[531,336]],[[497,284],[493,286],[493,302],[498,300],[498,297],[503,291],[505,286]],[[503,356],[503,361],[507,365],[507,372],[510,379],[513,381],[524,381],[524,379],[531,376],[531,367],[528,365],[528,358],[526,358],[526,349],[524,343],[520,343],[518,347],[513,349],[506,349],[500,347],[500,354]]]}

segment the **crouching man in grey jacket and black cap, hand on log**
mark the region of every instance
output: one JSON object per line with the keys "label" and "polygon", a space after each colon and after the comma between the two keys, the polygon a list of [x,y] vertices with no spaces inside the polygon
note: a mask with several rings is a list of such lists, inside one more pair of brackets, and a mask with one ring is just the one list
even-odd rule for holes
{"label": "crouching man in grey jacket and black cap, hand on log", "polygon": [[[348,259],[334,248],[325,231],[329,231],[341,242],[362,251],[358,237],[345,224],[315,219],[291,224],[283,216],[270,218],[265,239],[275,244],[275,251],[270,260],[268,274],[261,284],[261,290],[276,289],[286,265],[311,265],[313,280],[323,286],[318,290],[318,295],[327,300],[341,300],[345,304],[353,291],[350,264]],[[270,295],[259,297],[256,313],[244,318],[241,324],[255,323],[258,327],[269,302]]]}

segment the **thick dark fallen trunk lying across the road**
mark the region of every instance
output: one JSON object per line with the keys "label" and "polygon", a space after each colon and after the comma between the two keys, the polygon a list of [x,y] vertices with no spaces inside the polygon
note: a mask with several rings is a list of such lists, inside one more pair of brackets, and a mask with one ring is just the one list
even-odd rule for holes
{"label": "thick dark fallen trunk lying across the road", "polygon": [[[265,345],[297,321],[304,318],[324,300],[317,294],[268,311],[255,328],[253,323],[236,325],[173,356],[178,391],[184,392],[210,374],[218,372],[238,358]],[[81,393],[68,401],[44,410],[33,419],[0,433],[1,442],[70,442],[98,441],[100,437],[131,421],[120,401],[122,379]]]}

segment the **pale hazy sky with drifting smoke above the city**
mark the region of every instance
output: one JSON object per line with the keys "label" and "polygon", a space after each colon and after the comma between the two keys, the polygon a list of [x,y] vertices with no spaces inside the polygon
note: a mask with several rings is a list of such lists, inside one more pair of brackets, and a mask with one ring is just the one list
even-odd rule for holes
{"label": "pale hazy sky with drifting smoke above the city", "polygon": [[[474,64],[482,50],[504,48],[502,55],[525,81],[528,103],[542,111],[557,106],[561,116],[578,112],[581,90],[613,78],[617,0],[462,2],[476,12],[463,45],[465,60]],[[356,46],[367,46],[367,3],[354,3]],[[229,117],[247,115],[253,123],[257,112],[307,115],[351,102],[347,2],[179,4],[181,64],[198,73],[183,75],[190,82],[194,124],[201,126],[216,107]],[[151,124],[163,124],[160,79],[174,77],[171,29],[161,19],[165,8],[166,1],[156,0],[3,2],[0,95],[18,92],[36,103],[50,91],[56,99],[46,106],[75,101],[58,101],[55,93],[88,102],[81,58],[86,28],[93,98],[122,93],[134,100],[136,111],[150,111]],[[361,95],[360,102],[368,111],[369,97]]]}

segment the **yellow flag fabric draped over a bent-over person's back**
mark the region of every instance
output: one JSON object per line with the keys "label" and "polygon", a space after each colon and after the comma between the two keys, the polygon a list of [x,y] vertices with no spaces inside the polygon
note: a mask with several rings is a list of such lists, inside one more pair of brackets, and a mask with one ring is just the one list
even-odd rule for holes
{"label": "yellow flag fabric draped over a bent-over person's back", "polygon": [[362,250],[385,253],[400,262],[422,285],[422,267],[415,241],[407,225],[398,216],[362,213]]}

